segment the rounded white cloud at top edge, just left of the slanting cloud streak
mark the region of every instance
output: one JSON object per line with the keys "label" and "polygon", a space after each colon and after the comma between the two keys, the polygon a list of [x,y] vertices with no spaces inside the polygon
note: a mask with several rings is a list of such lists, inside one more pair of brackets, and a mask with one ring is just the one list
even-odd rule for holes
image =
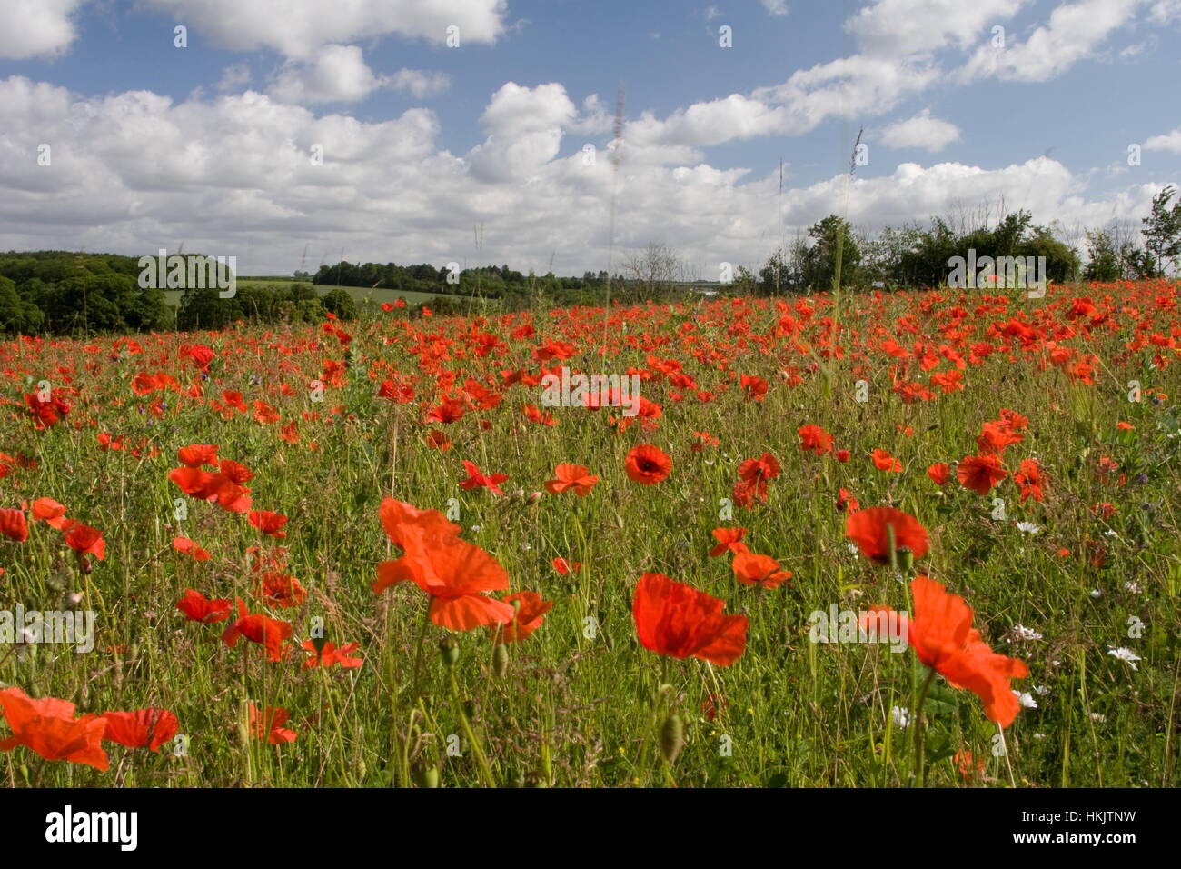
{"label": "rounded white cloud at top edge, just left of the slanting cloud streak", "polygon": [[967,48],[1029,0],[877,0],[844,22],[866,53],[893,57]]}

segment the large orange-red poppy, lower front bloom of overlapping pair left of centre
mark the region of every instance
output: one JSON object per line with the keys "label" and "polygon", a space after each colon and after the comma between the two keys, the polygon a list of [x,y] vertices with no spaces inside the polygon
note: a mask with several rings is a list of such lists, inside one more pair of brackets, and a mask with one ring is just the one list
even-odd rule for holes
{"label": "large orange-red poppy, lower front bloom of overlapping pair left of centre", "polygon": [[373,591],[412,582],[430,596],[430,620],[449,630],[511,622],[513,607],[484,596],[509,586],[509,575],[492,556],[454,534],[423,534],[394,562],[377,565]]}

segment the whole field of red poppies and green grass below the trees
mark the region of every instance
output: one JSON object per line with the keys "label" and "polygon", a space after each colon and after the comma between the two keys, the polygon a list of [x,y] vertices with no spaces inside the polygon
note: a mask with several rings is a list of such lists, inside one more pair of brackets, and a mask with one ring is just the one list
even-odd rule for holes
{"label": "whole field of red poppies and green grass below the trees", "polygon": [[1176,786],[1177,290],[9,341],[0,772]]}

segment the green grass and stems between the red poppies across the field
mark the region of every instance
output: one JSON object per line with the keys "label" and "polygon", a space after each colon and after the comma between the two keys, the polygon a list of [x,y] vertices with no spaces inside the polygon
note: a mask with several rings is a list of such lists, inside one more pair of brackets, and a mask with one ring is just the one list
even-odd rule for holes
{"label": "green grass and stems between the red poppies across the field", "polygon": [[[1066,292],[1068,304],[1069,297]],[[853,297],[843,320],[857,329],[893,326],[907,313],[924,332],[934,332],[938,343],[939,324],[912,307],[911,299],[921,298],[887,298],[879,309]],[[1031,311],[1036,304],[1044,303],[1014,303],[1013,310]],[[214,342],[228,355],[214,362],[208,382],[177,362],[180,342],[171,337],[159,345],[141,337],[145,355],[124,352],[118,362],[87,355],[70,342],[24,348],[21,364],[34,380],[57,383],[61,375],[56,371],[64,365],[70,385],[80,391],[66,422],[46,432],[34,432],[20,408],[12,408],[0,449],[33,456],[38,466],[13,469],[0,484],[2,506],[54,498],[70,517],[105,532],[107,555],[84,576],[58,532],[43,523],[31,528],[25,544],[0,543],[5,607],[58,609],[67,595],[79,594],[79,605],[98,612],[99,631],[89,655],[60,646],[0,648],[0,679],[31,696],[76,702],[79,713],[165,707],[178,716],[189,744],[187,757],[172,755],[171,744],[159,755],[111,745],[107,772],[43,764],[18,747],[0,755],[0,772],[18,786],[384,787],[411,785],[422,780],[422,769],[431,767],[442,786],[479,785],[484,777],[477,745],[464,735],[463,708],[492,779],[503,786],[907,785],[913,731],[899,729],[890,711],[915,708],[925,674],[914,653],[809,642],[809,614],[833,603],[909,609],[900,578],[849,551],[844,514],[835,506],[843,487],[862,507],[892,504],[924,523],[932,551],[919,570],[966,597],[976,610],[974,627],[993,649],[1027,663],[1031,676],[1014,687],[1044,689],[1033,694],[1037,708],[1024,709],[1005,731],[1007,755],[998,755],[997,727],[985,719],[979,699],[937,680],[925,707],[928,785],[1176,786],[1181,556],[1174,402],[1181,393],[1181,363],[1153,370],[1149,349],[1117,368],[1130,336],[1125,324],[1123,331],[1097,331],[1085,344],[1064,342],[1101,357],[1095,385],[1071,382],[1053,367],[1039,370],[1039,356],[1023,358],[1014,351],[1009,362],[1000,352],[967,367],[964,391],[903,404],[890,393],[894,359],[874,351],[868,367],[857,371],[854,367],[867,365],[864,359],[826,359],[833,374],[826,383],[823,369],[807,374],[810,357],[790,350],[785,341],[764,352],[751,338],[770,333],[781,311],[765,301],[743,305],[748,313],[742,320],[751,330],[739,333],[730,329],[737,320],[729,300],[679,311],[635,309],[607,328],[593,316],[555,319],[549,312],[527,312],[476,330],[494,331],[505,344],[487,357],[454,352],[470,331],[463,320],[419,324],[424,332],[456,342],[442,365],[459,371],[459,384],[469,376],[498,382],[501,370],[536,371],[533,349],[555,337],[578,345],[567,362],[572,367],[648,369],[647,357],[654,354],[679,359],[702,389],[717,394],[700,402],[692,390],[673,390],[666,381],[645,382],[641,395],[659,402],[663,416],[652,430],[637,422],[622,433],[608,424],[609,409],[556,408],[557,426],[534,424],[522,408],[540,406],[541,390],[521,385],[507,390],[496,408],[469,410],[448,426],[424,426],[425,410],[437,403],[438,371],[436,363],[424,368],[410,354],[393,317],[346,324],[353,338],[347,380],[329,387],[322,403],[312,402],[305,385],[320,376],[325,358],[342,359],[345,351],[318,329],[307,330],[307,341],[288,338],[291,352],[269,350],[274,338],[260,338],[261,331],[227,333]],[[992,319],[1005,316],[978,314],[965,324],[980,329],[972,342],[986,341],[983,331]],[[813,346],[818,346],[816,320],[803,333]],[[514,338],[524,322],[534,324],[536,336]],[[692,332],[678,331],[685,322],[694,325]],[[699,343],[684,342],[685,335]],[[658,344],[651,336],[670,341]],[[918,338],[899,333],[907,346]],[[315,343],[325,341],[329,343]],[[725,370],[694,359],[692,350],[702,344],[722,349]],[[441,342],[423,346],[439,348]],[[7,345],[9,364],[15,354]],[[167,362],[151,362],[161,355]],[[785,365],[802,370],[803,383],[789,387],[781,376]],[[180,380],[181,389],[196,382],[205,398],[239,390],[247,402],[276,408],[281,421],[263,424],[249,414],[226,419],[168,390],[136,396],[129,382],[141,369],[164,370]],[[422,406],[374,397],[376,384],[394,371],[417,376]],[[737,374],[769,381],[765,400],[746,401]],[[926,382],[926,374],[911,374]],[[860,378],[869,382],[866,403],[855,401]],[[1133,378],[1168,398],[1129,402],[1125,382]],[[280,393],[285,382],[295,387],[295,395]],[[19,400],[19,385],[9,385],[8,397]],[[685,397],[673,401],[670,391]],[[159,398],[168,407],[157,415],[149,406]],[[1011,480],[980,498],[955,485],[954,475],[939,488],[925,473],[933,462],[976,453],[980,424],[997,419],[1001,408],[1030,419],[1025,440],[1004,458],[1011,469],[1019,459],[1038,458],[1050,480],[1044,504],[1019,504]],[[490,423],[487,429],[482,419]],[[1117,430],[1120,421],[1135,429]],[[280,426],[288,422],[298,424],[299,443],[279,439]],[[796,429],[805,423],[831,432],[836,448],[852,452],[850,461],[802,453]],[[900,430],[907,427],[913,434]],[[430,428],[444,429],[454,448],[428,449],[423,436]],[[104,452],[96,437],[105,432],[132,446],[143,439],[159,454]],[[719,446],[692,452],[696,432],[709,432]],[[674,461],[672,475],[653,487],[624,473],[628,449],[644,442],[658,445]],[[275,543],[244,517],[194,501],[167,479],[177,466],[177,448],[189,443],[218,445],[221,458],[247,465],[256,474],[247,484],[254,506],[291,517],[281,543],[289,547],[289,571],[309,595],[305,605],[272,615],[294,624],[296,641],[309,636],[314,618],[322,618],[328,640],[360,643],[360,669],[301,670],[302,651],[288,662],[268,663],[253,643],[229,649],[220,642],[226,623],[202,625],[176,611],[174,604],[188,588],[208,597],[242,597],[252,612],[261,611],[246,549]],[[877,471],[868,459],[877,447],[899,456],[905,473]],[[751,511],[733,507],[731,518],[725,499],[737,467],[764,452],[782,463],[770,499]],[[1121,465],[1125,485],[1097,473],[1103,455]],[[462,489],[463,459],[484,473],[508,474],[505,497]],[[540,492],[560,462],[586,465],[601,480],[585,499],[546,494],[527,504],[522,495]],[[1137,481],[1140,473],[1146,481]],[[521,494],[514,497],[517,489]],[[423,592],[410,583],[381,595],[370,589],[377,564],[397,555],[378,520],[378,506],[389,495],[420,508],[457,507],[463,537],[500,560],[513,591],[535,590],[554,602],[544,624],[509,647],[502,677],[494,674],[487,633],[470,631],[458,636],[452,694],[436,650],[442,631],[424,618]],[[1005,520],[993,518],[992,497],[1004,499]],[[176,518],[177,499],[187,510],[183,520]],[[1090,505],[1100,502],[1114,504],[1117,512],[1097,518]],[[1151,508],[1142,508],[1146,504]],[[1040,531],[1024,534],[1016,520]],[[707,557],[715,543],[711,530],[736,525],[749,528],[745,543],[752,551],[774,556],[794,572],[790,586],[738,585],[727,556]],[[174,536],[196,540],[213,560],[196,563],[175,552]],[[1104,551],[1102,566],[1090,557],[1097,546]],[[1069,556],[1061,557],[1059,549]],[[555,557],[581,562],[582,571],[560,576],[552,566]],[[744,612],[750,629],[743,656],[720,668],[642,648],[631,605],[637,581],[647,571],[723,598],[726,612]],[[1138,638],[1129,637],[1131,617],[1143,623]],[[1011,633],[1017,624],[1043,638],[1017,641]],[[425,653],[416,696],[419,643]],[[1138,669],[1110,656],[1111,647],[1134,649]],[[703,712],[711,695],[722,698],[712,721]],[[287,726],[298,739],[279,746],[242,739],[250,700],[289,709]],[[673,709],[685,721],[687,745],[668,766],[658,734]],[[461,754],[450,757],[448,746],[456,739]],[[984,759],[983,773],[965,777],[957,770],[952,755],[961,750]]]}

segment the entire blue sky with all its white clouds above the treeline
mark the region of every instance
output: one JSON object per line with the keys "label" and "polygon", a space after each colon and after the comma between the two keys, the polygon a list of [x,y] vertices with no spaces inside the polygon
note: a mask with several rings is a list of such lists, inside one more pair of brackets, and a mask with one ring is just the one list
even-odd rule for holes
{"label": "entire blue sky with all its white clouds above the treeline", "polygon": [[1179,38],[1181,0],[5,0],[0,248],[709,278],[1001,202],[1081,242],[1181,181]]}

